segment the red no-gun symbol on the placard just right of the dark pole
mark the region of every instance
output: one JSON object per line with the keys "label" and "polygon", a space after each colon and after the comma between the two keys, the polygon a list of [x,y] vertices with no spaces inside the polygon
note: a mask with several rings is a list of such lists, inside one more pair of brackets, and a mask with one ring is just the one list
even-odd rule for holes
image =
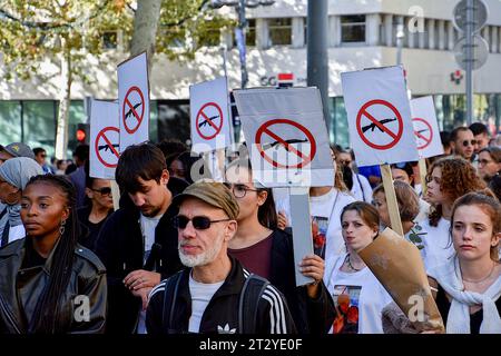
{"label": "red no-gun symbol on the placard just right of the dark pole", "polygon": [[[372,116],[367,109],[372,106],[384,106],[386,108],[389,108],[395,116],[395,119],[399,123],[399,131],[397,132],[393,132],[391,129],[389,129],[386,126],[384,126],[384,123],[386,122],[386,120],[389,121],[394,121],[395,119],[384,119],[382,118],[381,120],[377,120],[377,118],[375,118],[374,116]],[[366,126],[366,127],[362,127],[362,117],[366,117],[370,121],[371,125]],[[374,144],[367,137],[365,131],[367,130],[367,128],[372,128],[371,131],[375,131],[375,129],[379,129],[382,134],[390,136],[390,138],[392,139],[389,144],[386,145],[379,145],[379,144]],[[400,139],[402,138],[402,134],[403,134],[403,120],[402,120],[402,115],[400,115],[399,110],[396,110],[396,108],[390,103],[386,100],[371,100],[366,103],[364,103],[364,106],[358,110],[358,113],[356,116],[356,130],[358,131],[360,138],[362,139],[362,141],[364,141],[369,147],[372,147],[374,149],[379,149],[379,150],[385,150],[385,149],[390,149],[393,146],[395,146],[396,144],[399,144]]]}

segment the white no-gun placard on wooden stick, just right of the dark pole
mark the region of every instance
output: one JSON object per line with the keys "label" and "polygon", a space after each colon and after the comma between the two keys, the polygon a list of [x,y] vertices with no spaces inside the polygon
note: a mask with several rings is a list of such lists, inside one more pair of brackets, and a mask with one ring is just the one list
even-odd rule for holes
{"label": "white no-gun placard on wooden stick, just right of the dark pole", "polygon": [[358,167],[418,160],[402,67],[341,73]]}

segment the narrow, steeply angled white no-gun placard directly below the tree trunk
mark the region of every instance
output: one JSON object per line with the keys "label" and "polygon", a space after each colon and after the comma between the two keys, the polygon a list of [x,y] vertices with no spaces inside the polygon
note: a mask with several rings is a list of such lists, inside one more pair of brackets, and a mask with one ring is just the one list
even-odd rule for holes
{"label": "narrow, steeply angled white no-gun placard directly below the tree trunk", "polygon": [[146,52],[118,65],[120,152],[149,138],[149,83]]}

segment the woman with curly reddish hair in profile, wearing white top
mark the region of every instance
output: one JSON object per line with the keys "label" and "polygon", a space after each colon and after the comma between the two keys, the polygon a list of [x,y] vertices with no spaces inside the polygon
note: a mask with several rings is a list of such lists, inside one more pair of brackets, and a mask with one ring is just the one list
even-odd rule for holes
{"label": "woman with curly reddish hair in profile, wearing white top", "polygon": [[445,157],[433,162],[426,176],[426,201],[432,205],[421,226],[426,270],[446,263],[454,253],[449,239],[451,212],[455,199],[485,188],[474,167],[463,158]]}

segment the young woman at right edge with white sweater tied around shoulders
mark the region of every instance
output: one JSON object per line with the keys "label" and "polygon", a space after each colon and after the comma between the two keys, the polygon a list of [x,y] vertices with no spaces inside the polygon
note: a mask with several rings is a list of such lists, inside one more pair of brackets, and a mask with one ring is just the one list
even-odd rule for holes
{"label": "young woman at right edge with white sweater tied around shoulders", "polygon": [[501,334],[501,204],[481,192],[459,198],[451,237],[455,256],[429,271],[446,333]]}

